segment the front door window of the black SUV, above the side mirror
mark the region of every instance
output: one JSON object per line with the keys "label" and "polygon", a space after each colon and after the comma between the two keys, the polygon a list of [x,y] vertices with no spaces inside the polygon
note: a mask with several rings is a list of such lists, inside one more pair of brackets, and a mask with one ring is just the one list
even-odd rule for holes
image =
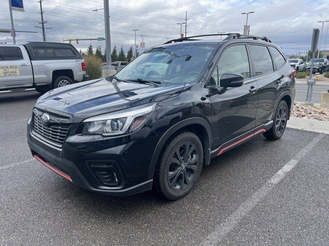
{"label": "front door window of the black SUV, above the side mirror", "polygon": [[237,73],[250,78],[250,67],[245,45],[235,45],[227,48],[218,63],[218,77],[224,73]]}

